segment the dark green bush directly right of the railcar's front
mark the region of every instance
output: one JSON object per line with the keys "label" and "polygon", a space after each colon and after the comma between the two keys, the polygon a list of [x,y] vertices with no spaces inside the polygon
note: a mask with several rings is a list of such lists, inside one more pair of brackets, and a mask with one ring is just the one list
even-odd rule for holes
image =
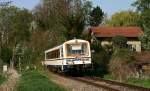
{"label": "dark green bush directly right of the railcar's front", "polygon": [[111,57],[111,54],[108,50],[103,49],[101,43],[96,40],[92,46],[94,53],[92,54],[92,62],[94,70],[90,72],[92,76],[103,77],[108,73],[108,63]]}

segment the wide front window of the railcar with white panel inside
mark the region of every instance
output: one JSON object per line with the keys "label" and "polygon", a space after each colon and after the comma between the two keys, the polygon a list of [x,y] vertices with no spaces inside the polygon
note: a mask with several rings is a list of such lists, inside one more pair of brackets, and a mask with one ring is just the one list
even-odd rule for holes
{"label": "wide front window of the railcar with white panel inside", "polygon": [[67,54],[70,55],[86,55],[87,45],[86,44],[68,44]]}

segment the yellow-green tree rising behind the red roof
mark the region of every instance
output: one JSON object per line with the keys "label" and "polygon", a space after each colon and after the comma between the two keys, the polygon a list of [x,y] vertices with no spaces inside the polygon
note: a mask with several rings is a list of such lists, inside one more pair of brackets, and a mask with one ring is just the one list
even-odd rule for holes
{"label": "yellow-green tree rising behind the red roof", "polygon": [[106,21],[107,26],[138,26],[140,14],[133,11],[121,11],[112,15],[111,19]]}

